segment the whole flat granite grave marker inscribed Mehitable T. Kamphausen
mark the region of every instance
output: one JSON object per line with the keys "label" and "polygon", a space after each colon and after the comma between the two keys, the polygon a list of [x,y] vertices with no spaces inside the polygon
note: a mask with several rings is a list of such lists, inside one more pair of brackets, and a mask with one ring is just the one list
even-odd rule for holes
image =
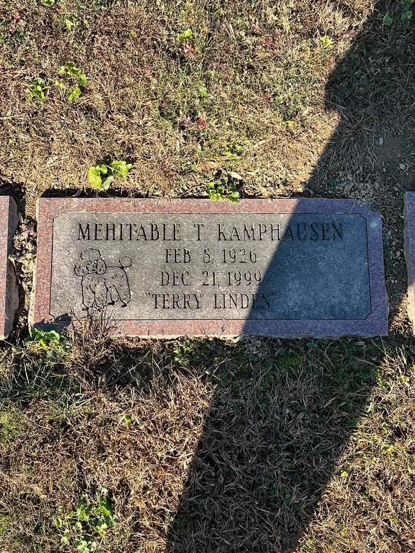
{"label": "whole flat granite grave marker inscribed Mehitable T. Kamphausen", "polygon": [[38,204],[32,324],[121,335],[387,334],[382,224],[349,200]]}

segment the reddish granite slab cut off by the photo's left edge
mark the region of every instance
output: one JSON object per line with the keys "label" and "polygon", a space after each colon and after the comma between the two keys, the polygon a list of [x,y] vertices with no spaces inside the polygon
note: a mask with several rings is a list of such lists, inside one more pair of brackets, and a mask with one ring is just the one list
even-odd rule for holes
{"label": "reddish granite slab cut off by the photo's left edge", "polygon": [[4,340],[13,330],[14,316],[19,306],[16,275],[8,258],[17,226],[15,201],[11,196],[0,196],[0,340]]}

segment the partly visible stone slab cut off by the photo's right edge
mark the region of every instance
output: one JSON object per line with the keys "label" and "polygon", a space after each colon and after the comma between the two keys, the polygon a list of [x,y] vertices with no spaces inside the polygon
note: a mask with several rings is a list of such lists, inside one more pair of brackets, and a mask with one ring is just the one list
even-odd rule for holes
{"label": "partly visible stone slab cut off by the photo's right edge", "polygon": [[415,334],[415,192],[404,195],[404,255],[408,273],[408,317]]}

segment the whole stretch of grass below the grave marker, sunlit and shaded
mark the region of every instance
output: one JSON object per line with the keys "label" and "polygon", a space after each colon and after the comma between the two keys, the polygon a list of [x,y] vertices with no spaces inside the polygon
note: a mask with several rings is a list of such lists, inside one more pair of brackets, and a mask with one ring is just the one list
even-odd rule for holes
{"label": "whole stretch of grass below the grave marker, sunlit and shaded", "polygon": [[414,550],[411,348],[82,336],[3,357],[2,550],[58,551],[99,484],[103,551]]}

